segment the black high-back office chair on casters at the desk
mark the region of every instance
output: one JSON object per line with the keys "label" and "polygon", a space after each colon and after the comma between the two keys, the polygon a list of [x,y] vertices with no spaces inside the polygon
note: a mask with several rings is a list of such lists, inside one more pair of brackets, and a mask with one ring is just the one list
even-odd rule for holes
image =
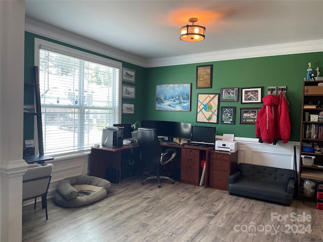
{"label": "black high-back office chair on casters at the desk", "polygon": [[141,160],[145,162],[148,169],[156,169],[156,175],[147,177],[141,181],[141,184],[144,185],[145,181],[149,179],[157,179],[158,188],[161,187],[160,179],[168,179],[172,181],[172,184],[175,184],[173,178],[159,175],[159,166],[166,165],[173,160],[177,153],[176,149],[163,151],[163,147],[161,147],[157,137],[156,129],[138,128],[137,140],[141,151]]}

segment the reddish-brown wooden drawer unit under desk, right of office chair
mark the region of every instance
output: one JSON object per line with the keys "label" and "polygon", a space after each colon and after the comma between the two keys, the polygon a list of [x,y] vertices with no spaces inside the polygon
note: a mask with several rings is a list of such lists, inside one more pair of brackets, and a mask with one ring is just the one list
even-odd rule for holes
{"label": "reddish-brown wooden drawer unit under desk, right of office chair", "polygon": [[201,177],[200,161],[205,151],[181,149],[181,181],[198,186]]}

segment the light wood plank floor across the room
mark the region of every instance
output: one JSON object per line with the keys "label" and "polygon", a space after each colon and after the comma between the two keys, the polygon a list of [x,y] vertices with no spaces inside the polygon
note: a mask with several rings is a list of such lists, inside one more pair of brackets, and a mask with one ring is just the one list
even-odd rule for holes
{"label": "light wood plank floor across the room", "polygon": [[[36,210],[25,206],[23,241],[322,241],[323,210],[314,203],[294,200],[286,207],[178,181],[158,189],[152,182],[124,179],[105,199],[80,208],[48,199],[47,221],[40,203]],[[286,222],[272,213],[288,216]],[[308,221],[291,221],[294,214]],[[248,231],[252,225],[255,231]]]}

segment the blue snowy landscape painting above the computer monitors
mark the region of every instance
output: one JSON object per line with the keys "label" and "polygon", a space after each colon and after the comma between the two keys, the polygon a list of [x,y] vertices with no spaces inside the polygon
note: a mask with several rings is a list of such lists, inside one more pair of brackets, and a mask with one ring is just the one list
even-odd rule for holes
{"label": "blue snowy landscape painting above the computer monitors", "polygon": [[155,109],[160,111],[190,111],[191,83],[156,85]]}

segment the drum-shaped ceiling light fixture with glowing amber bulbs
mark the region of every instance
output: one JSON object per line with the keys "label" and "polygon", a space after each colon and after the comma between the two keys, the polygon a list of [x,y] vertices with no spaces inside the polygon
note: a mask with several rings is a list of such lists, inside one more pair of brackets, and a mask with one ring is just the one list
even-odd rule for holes
{"label": "drum-shaped ceiling light fixture with glowing amber bulbs", "polygon": [[181,27],[180,39],[187,42],[199,42],[205,39],[205,27],[194,25],[197,22],[197,18],[190,18],[188,22],[192,23],[192,25]]}

